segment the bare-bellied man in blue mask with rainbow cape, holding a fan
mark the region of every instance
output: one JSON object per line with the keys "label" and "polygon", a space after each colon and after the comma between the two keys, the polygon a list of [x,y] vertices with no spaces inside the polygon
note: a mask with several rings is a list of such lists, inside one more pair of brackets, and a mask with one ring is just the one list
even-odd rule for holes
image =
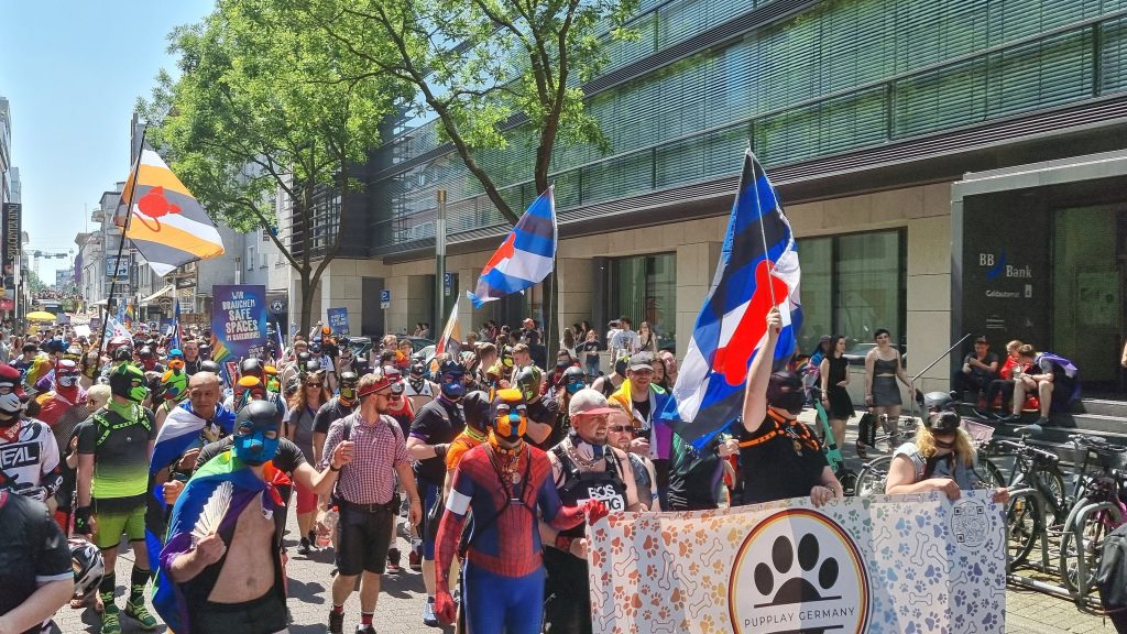
{"label": "bare-bellied man in blue mask with rainbow cape, holding a fan", "polygon": [[[287,632],[282,531],[276,523],[285,508],[272,463],[279,446],[278,425],[273,404],[246,405],[229,448],[197,469],[177,499],[153,597],[171,631]],[[346,452],[335,452],[332,473],[347,459]]]}

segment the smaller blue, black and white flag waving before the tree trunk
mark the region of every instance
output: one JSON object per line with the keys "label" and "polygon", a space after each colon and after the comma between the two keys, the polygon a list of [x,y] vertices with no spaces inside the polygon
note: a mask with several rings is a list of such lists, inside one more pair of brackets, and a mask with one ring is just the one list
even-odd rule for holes
{"label": "smaller blue, black and white flag waving before the tree trunk", "polygon": [[481,270],[478,288],[469,293],[473,308],[540,282],[556,261],[556,187],[529,205],[516,227]]}

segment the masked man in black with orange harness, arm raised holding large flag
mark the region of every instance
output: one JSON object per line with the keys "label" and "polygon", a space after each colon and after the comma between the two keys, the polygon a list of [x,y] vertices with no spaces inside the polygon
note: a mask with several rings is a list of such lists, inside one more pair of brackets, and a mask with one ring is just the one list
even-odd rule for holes
{"label": "masked man in black with orange harness, arm raised holding large flag", "polygon": [[755,352],[744,391],[739,465],[745,504],[810,496],[820,507],[844,495],[822,444],[798,421],[806,403],[802,380],[791,371],[771,371],[782,332],[782,315],[766,316],[766,342]]}

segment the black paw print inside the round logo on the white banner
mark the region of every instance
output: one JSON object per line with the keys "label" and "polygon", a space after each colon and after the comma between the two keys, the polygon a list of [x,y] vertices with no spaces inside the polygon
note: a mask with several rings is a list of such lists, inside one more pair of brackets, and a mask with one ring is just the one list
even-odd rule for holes
{"label": "black paw print inside the round logo on the white banner", "polygon": [[825,557],[818,563],[819,558],[818,540],[813,534],[804,535],[799,539],[797,551],[790,538],[781,535],[771,547],[771,564],[763,562],[755,566],[755,587],[761,595],[770,596],[775,588],[775,574],[786,575],[797,563],[804,573],[814,574],[816,581],[808,581],[806,576],[793,576],[779,585],[771,602],[779,605],[822,601],[828,598],[823,597],[822,592],[837,583],[837,560]]}

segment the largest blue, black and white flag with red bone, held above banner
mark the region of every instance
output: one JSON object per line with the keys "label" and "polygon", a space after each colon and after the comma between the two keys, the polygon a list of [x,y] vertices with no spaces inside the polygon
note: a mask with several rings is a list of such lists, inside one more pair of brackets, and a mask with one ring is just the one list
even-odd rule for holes
{"label": "largest blue, black and white flag with red bone, held above banner", "polygon": [[739,415],[744,381],[766,342],[772,305],[783,328],[775,359],[795,351],[801,324],[798,250],[763,166],[748,149],[712,285],[696,317],[673,398],[662,417],[698,447]]}

